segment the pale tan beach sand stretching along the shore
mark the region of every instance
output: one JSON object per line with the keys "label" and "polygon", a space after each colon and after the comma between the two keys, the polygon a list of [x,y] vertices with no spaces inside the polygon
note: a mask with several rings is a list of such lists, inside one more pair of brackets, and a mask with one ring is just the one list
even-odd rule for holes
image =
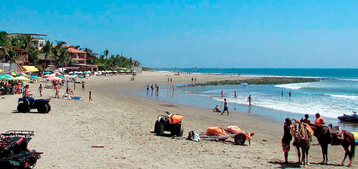
{"label": "pale tan beach sand stretching along the shore", "polygon": [[[147,84],[168,84],[165,75],[173,78],[173,84],[190,83],[192,77],[197,77],[197,82],[250,78],[173,74],[143,72],[136,76],[135,81],[130,81],[130,75],[92,76],[91,79],[84,79],[86,92],[81,91],[81,84],[77,84],[74,91],[75,96],[82,96],[85,101],[51,99],[52,110],[49,114],[38,114],[36,110],[33,113],[17,113],[17,98],[20,95],[5,95],[5,99],[0,99],[0,132],[34,130],[35,136],[29,148],[44,152],[36,165],[38,169],[297,168],[298,164],[283,164],[281,137],[284,119],[278,119],[282,121],[280,123],[248,113],[220,115],[212,112],[211,108],[184,106],[114,92],[138,91]],[[36,92],[39,83],[29,84],[31,93],[35,98],[40,98]],[[73,88],[73,83],[70,86]],[[61,92],[64,91],[66,88],[61,89]],[[91,102],[88,101],[88,91],[92,92]],[[42,98],[47,98],[54,96],[54,92],[44,89],[43,95]],[[163,111],[183,116],[184,135],[190,130],[205,132],[207,127],[231,125],[238,125],[255,135],[252,136],[251,146],[159,137],[150,131],[154,128],[156,115],[163,114]],[[104,148],[91,148],[92,145],[104,145]],[[332,165],[320,165],[321,149],[319,145],[313,145],[309,155],[311,165],[307,168],[343,168],[334,166],[340,164],[343,155],[341,146],[329,146],[329,163]],[[297,161],[292,145],[289,161]],[[353,161],[352,165],[356,167],[357,163]]]}

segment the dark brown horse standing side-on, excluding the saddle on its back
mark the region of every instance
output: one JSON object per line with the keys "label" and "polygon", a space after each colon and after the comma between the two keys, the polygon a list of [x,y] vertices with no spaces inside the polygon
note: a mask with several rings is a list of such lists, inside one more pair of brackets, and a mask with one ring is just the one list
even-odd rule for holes
{"label": "dark brown horse standing side-on, excluding the saddle on its back", "polygon": [[[328,144],[332,143],[332,138],[330,135],[329,128],[327,126],[321,127],[316,124],[309,124],[314,132],[314,136],[317,138],[318,143],[321,145],[323,160],[322,163],[328,164]],[[342,130],[343,140],[340,142],[345,153],[344,158],[342,160],[341,165],[344,165],[345,158],[349,159],[349,163],[347,166],[352,164],[352,160],[354,158],[355,152],[355,141],[353,134],[348,132],[347,130]],[[350,150],[349,150],[350,146]]]}

